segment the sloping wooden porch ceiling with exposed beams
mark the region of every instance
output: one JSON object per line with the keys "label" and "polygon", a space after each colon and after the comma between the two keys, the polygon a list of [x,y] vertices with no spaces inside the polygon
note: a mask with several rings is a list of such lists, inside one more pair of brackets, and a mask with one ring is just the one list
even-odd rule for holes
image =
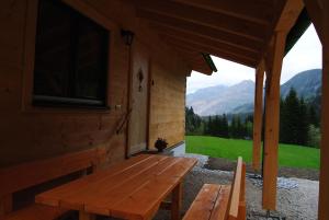
{"label": "sloping wooden porch ceiling with exposed beams", "polygon": [[285,0],[132,0],[137,16],[190,66],[212,69],[202,53],[256,68],[270,45]]}

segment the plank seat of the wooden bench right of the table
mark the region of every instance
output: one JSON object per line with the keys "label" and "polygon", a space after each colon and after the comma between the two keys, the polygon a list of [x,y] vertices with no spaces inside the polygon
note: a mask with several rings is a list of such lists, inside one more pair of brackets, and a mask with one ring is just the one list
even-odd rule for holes
{"label": "plank seat of the wooden bench right of the table", "polygon": [[204,184],[183,220],[225,220],[230,185]]}

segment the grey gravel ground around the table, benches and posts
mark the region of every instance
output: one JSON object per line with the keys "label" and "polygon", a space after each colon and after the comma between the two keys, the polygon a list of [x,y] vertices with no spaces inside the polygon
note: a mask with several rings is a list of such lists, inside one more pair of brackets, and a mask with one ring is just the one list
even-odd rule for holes
{"label": "grey gravel ground around the table, benches and posts", "polygon": [[[229,184],[232,180],[232,172],[207,170],[207,157],[184,154],[183,157],[193,157],[198,159],[197,165],[188,174],[184,181],[183,208],[182,215],[188,210],[194,200],[197,192],[205,183]],[[277,211],[275,216],[283,217],[287,220],[316,220],[318,187],[317,181],[303,178],[285,178],[296,183],[296,187],[292,189],[277,189]],[[247,178],[246,181],[246,198],[247,198],[247,219],[262,220],[265,212],[261,209],[261,187],[253,184],[254,181]],[[169,211],[160,210],[155,220],[169,220]],[[270,220],[270,219],[269,219]]]}

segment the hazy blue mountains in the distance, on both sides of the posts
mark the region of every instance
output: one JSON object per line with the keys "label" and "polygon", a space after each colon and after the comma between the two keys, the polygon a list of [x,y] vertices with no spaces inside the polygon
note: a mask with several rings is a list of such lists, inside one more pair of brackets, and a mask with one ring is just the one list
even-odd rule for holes
{"label": "hazy blue mountains in the distance, on both sides of the posts", "polygon": [[[297,95],[313,102],[320,95],[321,70],[313,69],[299,72],[281,85],[281,95],[285,97],[291,88]],[[197,90],[186,95],[186,105],[192,106],[201,116],[220,114],[241,114],[253,112],[254,82],[242,81],[231,86],[216,85]]]}

